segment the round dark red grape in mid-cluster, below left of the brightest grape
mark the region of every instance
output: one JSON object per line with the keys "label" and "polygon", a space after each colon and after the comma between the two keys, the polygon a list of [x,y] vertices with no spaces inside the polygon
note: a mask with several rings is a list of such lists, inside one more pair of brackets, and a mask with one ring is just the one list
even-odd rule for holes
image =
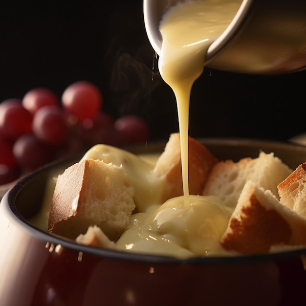
{"label": "round dark red grape in mid-cluster, below left of the brightest grape", "polygon": [[55,106],[44,106],[33,118],[33,133],[46,144],[60,145],[67,137],[68,125],[63,111]]}

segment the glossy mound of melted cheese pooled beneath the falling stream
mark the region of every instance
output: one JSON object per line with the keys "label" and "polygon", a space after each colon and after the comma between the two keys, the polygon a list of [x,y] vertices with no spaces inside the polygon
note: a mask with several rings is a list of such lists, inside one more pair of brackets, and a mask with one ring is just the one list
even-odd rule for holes
{"label": "glossy mound of melted cheese pooled beneath the falling stream", "polygon": [[175,197],[149,213],[134,214],[119,250],[188,258],[224,254],[219,241],[232,213],[216,197]]}

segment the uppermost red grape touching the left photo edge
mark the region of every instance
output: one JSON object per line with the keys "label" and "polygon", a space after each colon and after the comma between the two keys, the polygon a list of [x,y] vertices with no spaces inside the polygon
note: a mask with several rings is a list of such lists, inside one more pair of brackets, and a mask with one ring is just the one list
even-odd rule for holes
{"label": "uppermost red grape touching the left photo edge", "polygon": [[19,99],[8,99],[0,104],[0,133],[17,139],[19,136],[32,131],[32,115],[22,106]]}

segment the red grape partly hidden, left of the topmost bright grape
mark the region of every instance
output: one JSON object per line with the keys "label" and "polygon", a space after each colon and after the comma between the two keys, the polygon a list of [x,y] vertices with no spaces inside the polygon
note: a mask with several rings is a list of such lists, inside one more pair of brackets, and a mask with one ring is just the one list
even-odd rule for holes
{"label": "red grape partly hidden, left of the topmost bright grape", "polygon": [[48,88],[38,87],[29,90],[22,99],[22,105],[34,114],[38,109],[54,105],[59,106],[60,101],[53,91]]}

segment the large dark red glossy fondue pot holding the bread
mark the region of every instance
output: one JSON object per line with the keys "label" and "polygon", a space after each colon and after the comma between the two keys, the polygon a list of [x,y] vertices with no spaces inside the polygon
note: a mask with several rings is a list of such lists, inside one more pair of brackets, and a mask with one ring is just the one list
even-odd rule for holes
{"label": "large dark red glossy fondue pot holding the bread", "polygon": [[[295,169],[306,147],[201,139],[220,159],[274,152]],[[129,148],[160,153],[165,143]],[[306,248],[256,256],[179,260],[80,245],[33,223],[50,177],[79,160],[57,161],[22,178],[0,202],[0,305],[287,306],[305,304]],[[303,304],[304,303],[304,304]]]}

